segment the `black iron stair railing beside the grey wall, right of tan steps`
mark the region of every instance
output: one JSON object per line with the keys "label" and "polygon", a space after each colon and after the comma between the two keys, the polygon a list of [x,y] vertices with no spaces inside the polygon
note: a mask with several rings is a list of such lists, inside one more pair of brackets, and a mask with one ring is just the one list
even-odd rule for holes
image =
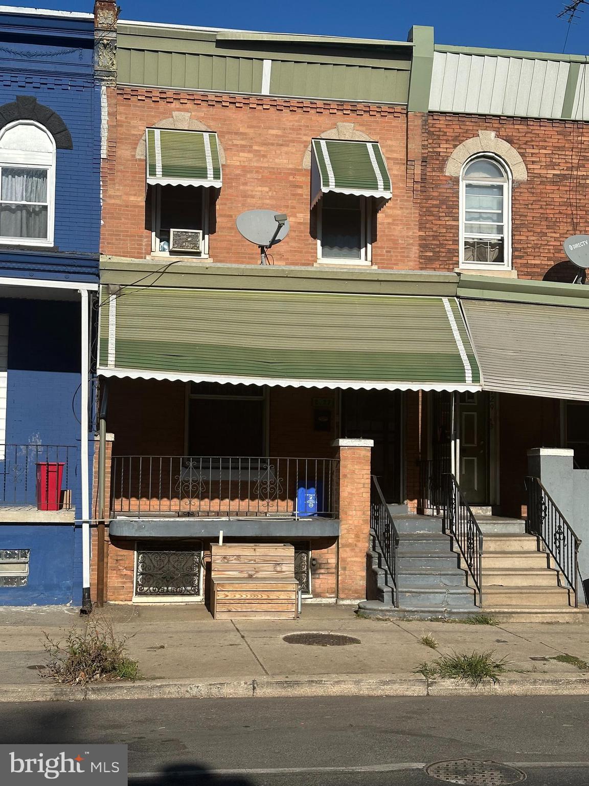
{"label": "black iron stair railing beside the grey wall, right of tan steps", "polygon": [[575,606],[578,606],[580,538],[577,538],[573,527],[562,515],[540,479],[528,477],[525,479],[525,486],[528,490],[525,531],[542,540],[569,588],[573,590]]}

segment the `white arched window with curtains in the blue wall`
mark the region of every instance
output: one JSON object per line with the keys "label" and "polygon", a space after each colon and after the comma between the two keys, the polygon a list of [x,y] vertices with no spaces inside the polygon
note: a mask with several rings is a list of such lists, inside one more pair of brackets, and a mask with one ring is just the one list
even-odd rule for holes
{"label": "white arched window with curtains in the blue wall", "polygon": [[0,131],[0,243],[53,245],[55,141],[33,121]]}

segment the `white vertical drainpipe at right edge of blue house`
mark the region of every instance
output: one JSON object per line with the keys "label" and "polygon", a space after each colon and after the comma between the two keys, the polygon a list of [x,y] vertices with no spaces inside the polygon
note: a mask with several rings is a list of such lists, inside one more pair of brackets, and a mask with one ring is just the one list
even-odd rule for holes
{"label": "white vertical drainpipe at right edge of blue house", "polygon": [[88,404],[90,401],[90,308],[88,290],[82,296],[82,387],[80,395],[80,476],[82,480],[82,608],[80,614],[90,614],[90,467],[88,465]]}

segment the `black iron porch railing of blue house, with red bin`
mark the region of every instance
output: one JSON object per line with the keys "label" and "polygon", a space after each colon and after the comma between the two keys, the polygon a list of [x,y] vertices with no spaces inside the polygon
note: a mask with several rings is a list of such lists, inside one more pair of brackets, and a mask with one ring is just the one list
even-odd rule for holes
{"label": "black iron porch railing of blue house, with red bin", "polygon": [[0,445],[0,509],[71,510],[77,449],[67,445]]}

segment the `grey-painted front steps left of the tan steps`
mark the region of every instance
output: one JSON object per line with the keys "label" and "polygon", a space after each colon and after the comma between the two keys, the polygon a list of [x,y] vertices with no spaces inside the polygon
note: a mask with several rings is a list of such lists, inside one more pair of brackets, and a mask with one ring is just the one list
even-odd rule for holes
{"label": "grey-painted front steps left of the tan steps", "polygon": [[448,619],[476,614],[474,591],[466,584],[466,573],[458,567],[452,542],[441,531],[441,519],[431,516],[394,516],[399,532],[397,597],[392,604],[388,572],[383,567],[378,544],[372,538],[372,565],[379,571],[379,601],[365,601],[360,611],[411,619]]}

